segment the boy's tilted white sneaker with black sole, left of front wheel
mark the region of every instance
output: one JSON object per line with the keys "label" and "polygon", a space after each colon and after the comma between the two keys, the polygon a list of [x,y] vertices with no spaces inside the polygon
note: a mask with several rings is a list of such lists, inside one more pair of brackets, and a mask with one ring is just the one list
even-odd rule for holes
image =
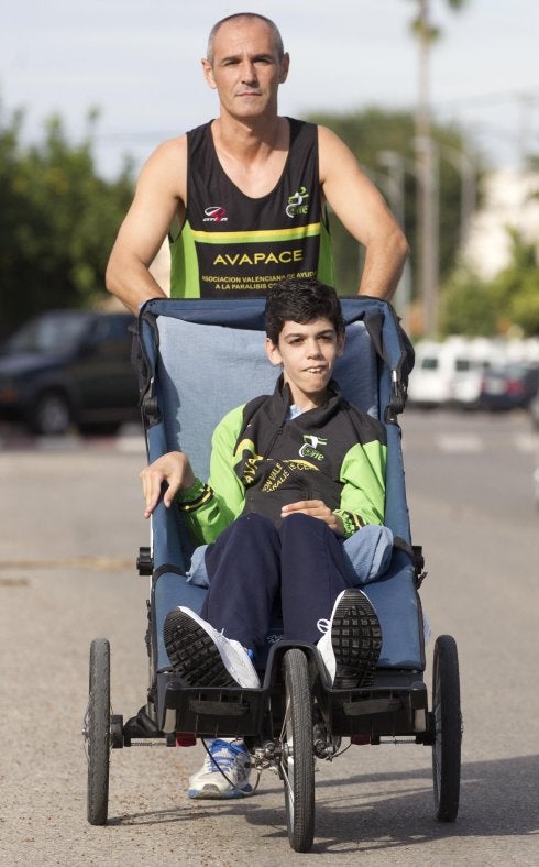
{"label": "boy's tilted white sneaker with black sole, left of front wheel", "polygon": [[191,687],[260,687],[256,669],[240,641],[226,638],[190,608],[167,614],[163,637],[174,671]]}

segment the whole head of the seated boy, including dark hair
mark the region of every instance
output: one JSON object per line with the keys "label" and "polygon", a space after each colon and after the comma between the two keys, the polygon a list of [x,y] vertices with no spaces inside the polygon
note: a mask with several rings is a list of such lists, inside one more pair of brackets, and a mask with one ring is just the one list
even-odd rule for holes
{"label": "whole head of the seated boy, including dark hair", "polygon": [[344,349],[344,322],[334,289],[315,279],[290,279],[270,289],[266,352],[283,366],[293,403],[301,409],[327,399],[328,383]]}

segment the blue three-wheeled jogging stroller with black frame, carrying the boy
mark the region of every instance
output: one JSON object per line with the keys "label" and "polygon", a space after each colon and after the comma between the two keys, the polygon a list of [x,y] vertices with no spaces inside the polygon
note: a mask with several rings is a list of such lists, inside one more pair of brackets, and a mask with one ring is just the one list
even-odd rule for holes
{"label": "blue three-wheeled jogging stroller with black frame, carrying the boy", "polygon": [[[268,635],[260,689],[197,688],[172,670],[163,641],[166,614],[177,605],[200,611],[206,591],[189,583],[193,545],[179,511],[160,503],[151,545],[140,549],[140,574],[150,575],[146,646],[147,700],[124,723],[111,713],[110,646],[90,647],[88,821],[106,824],[110,750],[164,738],[190,746],[197,738],[242,737],[255,769],[274,768],[284,782],[288,837],[307,852],[315,835],[315,764],[332,759],[341,738],[380,744],[413,739],[432,747],[436,814],[453,821],[459,808],[461,711],[457,646],[435,643],[432,698],[424,680],[424,618],[418,588],[421,549],[414,547],[405,492],[398,415],[406,400],[413,350],[389,304],[342,299],[346,345],[334,376],[343,395],[387,429],[385,524],[395,538],[391,566],[363,590],[383,635],[374,685],[334,689],[315,645]],[[232,407],[271,394],[276,373],[264,352],[263,300],[147,301],[135,338],[147,459],[185,451],[208,479],[213,428]]]}

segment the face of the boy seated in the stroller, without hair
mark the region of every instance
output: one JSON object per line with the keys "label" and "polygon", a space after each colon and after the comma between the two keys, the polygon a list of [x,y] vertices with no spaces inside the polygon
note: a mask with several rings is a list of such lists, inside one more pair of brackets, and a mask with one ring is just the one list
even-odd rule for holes
{"label": "face of the boy seated in the stroller, without hair", "polygon": [[293,400],[301,409],[324,403],[336,360],[343,349],[344,337],[338,337],[326,318],[304,325],[285,322],[277,345],[266,338],[267,358],[272,364],[283,365]]}

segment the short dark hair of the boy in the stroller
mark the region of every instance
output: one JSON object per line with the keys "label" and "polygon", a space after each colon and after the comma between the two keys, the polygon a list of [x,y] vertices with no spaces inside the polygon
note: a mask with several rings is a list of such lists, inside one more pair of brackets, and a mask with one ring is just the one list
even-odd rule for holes
{"label": "short dark hair of the boy in the stroller", "polygon": [[275,345],[285,322],[312,322],[329,319],[338,336],[344,333],[341,304],[332,286],[317,279],[284,279],[268,289],[266,334]]}

